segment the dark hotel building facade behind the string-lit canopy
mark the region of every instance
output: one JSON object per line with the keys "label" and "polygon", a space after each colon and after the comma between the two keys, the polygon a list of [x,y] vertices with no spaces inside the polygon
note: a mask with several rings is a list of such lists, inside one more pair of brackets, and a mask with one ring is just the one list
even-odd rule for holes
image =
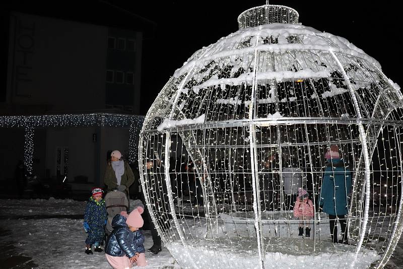
{"label": "dark hotel building facade behind the string-lit canopy", "polygon": [[[143,34],[11,12],[0,115],[138,115]],[[10,181],[18,161],[26,158],[27,131],[7,127],[0,134],[0,180]],[[76,186],[84,190],[103,185],[108,150],[127,154],[129,147],[127,126],[42,126],[33,135],[32,173],[53,181],[67,176],[71,183],[90,182]]]}

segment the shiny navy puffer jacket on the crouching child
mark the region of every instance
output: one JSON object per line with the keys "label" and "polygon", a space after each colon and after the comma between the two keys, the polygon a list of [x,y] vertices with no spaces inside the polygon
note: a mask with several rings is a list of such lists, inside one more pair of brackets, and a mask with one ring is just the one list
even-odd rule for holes
{"label": "shiny navy puffer jacket on the crouching child", "polygon": [[136,251],[131,246],[135,234],[126,225],[126,218],[116,215],[112,220],[112,227],[113,231],[105,245],[105,253],[115,257],[127,255],[129,258],[136,255]]}

